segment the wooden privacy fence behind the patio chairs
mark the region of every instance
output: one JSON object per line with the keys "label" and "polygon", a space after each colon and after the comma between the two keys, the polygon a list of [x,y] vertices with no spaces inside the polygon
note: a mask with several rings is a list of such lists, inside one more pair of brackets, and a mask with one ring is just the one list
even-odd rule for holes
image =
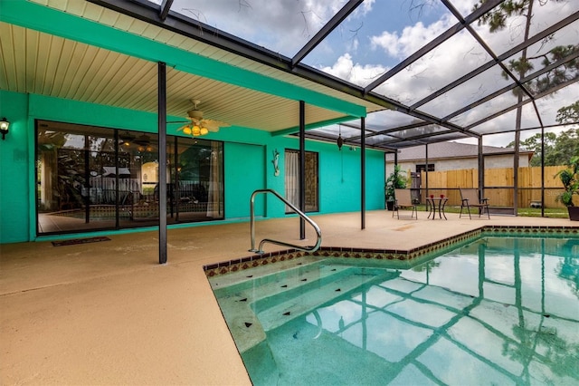
{"label": "wooden privacy fence behind the patio chairs", "polygon": [[[561,180],[555,175],[565,166],[545,167],[545,207],[564,207],[555,198],[563,192]],[[408,176],[410,176],[408,172]],[[513,207],[514,172],[512,168],[485,170],[484,196],[492,207]],[[460,206],[459,188],[478,188],[477,169],[458,169],[428,172],[428,194],[449,198],[448,205]],[[426,197],[426,172],[421,172],[421,201]],[[531,207],[541,202],[541,168],[518,169],[518,206]],[[574,198],[579,206],[579,197]]]}

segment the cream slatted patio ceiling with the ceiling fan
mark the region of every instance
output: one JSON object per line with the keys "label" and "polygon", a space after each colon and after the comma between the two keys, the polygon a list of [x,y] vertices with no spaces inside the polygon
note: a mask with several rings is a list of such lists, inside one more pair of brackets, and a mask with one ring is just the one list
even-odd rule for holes
{"label": "cream slatted patio ceiling with the ceiling fan", "polygon": [[[119,18],[119,22],[126,24],[122,19]],[[2,55],[6,69],[3,88],[131,110],[157,111],[157,63],[13,25],[2,24],[1,27],[14,41]],[[188,42],[166,33],[162,38],[174,39],[176,43]],[[237,60],[235,55],[223,51],[216,51],[215,55],[233,62]],[[245,59],[241,63],[249,65]],[[237,126],[273,131],[297,126],[299,121],[297,101],[170,67],[167,68],[167,91],[167,113],[171,116],[185,117],[186,111],[193,107],[190,100],[195,98],[201,100],[199,108],[206,118]],[[310,108],[307,121],[315,117],[333,117],[332,114],[336,113]]]}

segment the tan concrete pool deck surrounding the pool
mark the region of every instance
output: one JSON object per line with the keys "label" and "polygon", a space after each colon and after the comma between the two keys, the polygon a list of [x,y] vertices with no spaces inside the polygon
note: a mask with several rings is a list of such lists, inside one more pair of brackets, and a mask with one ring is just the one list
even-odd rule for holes
{"label": "tan concrete pool deck surrounding the pool", "polygon": [[[447,217],[370,211],[361,230],[359,213],[312,216],[322,246],[384,249],[486,225],[579,228],[568,219]],[[308,238],[299,240],[298,223],[258,221],[256,243],[267,237],[313,245],[308,226]],[[166,265],[158,265],[157,231],[109,238],[0,246],[0,384],[251,384],[203,270],[252,255],[249,223],[169,230]]]}

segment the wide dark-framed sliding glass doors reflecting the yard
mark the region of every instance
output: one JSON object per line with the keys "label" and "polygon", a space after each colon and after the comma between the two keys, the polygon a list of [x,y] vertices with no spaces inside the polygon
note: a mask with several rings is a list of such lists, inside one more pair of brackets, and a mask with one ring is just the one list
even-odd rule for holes
{"label": "wide dark-framed sliding glass doors reflecting the yard", "polygon": [[[36,122],[37,233],[158,224],[157,134]],[[223,143],[167,137],[167,223],[222,219]]]}

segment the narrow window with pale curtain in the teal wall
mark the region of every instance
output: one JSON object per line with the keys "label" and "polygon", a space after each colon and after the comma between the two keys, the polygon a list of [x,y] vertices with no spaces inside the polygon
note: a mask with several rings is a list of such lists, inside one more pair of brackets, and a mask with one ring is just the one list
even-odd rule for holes
{"label": "narrow window with pale curtain in the teal wall", "polygon": [[[317,212],[318,204],[318,153],[306,151],[306,202],[307,212]],[[299,207],[299,151],[285,151],[285,182],[286,182],[286,199]],[[286,213],[293,210],[286,207]]]}

